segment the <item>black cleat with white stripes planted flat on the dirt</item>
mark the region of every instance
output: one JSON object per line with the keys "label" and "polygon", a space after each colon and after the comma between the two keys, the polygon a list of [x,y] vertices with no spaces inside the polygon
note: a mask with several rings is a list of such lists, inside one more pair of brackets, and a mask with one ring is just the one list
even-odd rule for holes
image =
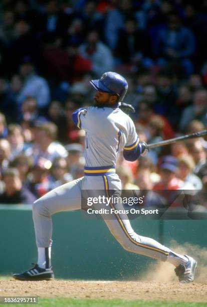
{"label": "black cleat with white stripes planted flat on the dirt", "polygon": [[41,268],[37,264],[22,274],[13,274],[15,279],[19,280],[50,280],[54,278],[52,266],[48,269]]}

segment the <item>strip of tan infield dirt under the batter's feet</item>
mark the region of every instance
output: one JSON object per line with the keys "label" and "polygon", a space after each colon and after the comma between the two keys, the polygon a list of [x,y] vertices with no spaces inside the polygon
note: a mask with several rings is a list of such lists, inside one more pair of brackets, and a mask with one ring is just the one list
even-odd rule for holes
{"label": "strip of tan infield dirt under the batter's feet", "polygon": [[1,296],[207,301],[207,283],[0,280]]}

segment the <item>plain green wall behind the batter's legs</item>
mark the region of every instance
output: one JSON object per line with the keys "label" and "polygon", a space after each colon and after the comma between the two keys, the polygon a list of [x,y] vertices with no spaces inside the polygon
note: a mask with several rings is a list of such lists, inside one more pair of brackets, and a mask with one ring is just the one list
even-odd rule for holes
{"label": "plain green wall behind the batter's legs", "polygon": [[[171,239],[206,246],[207,220],[135,219],[131,224],[138,234],[167,246]],[[0,275],[28,269],[36,261],[31,207],[0,205]],[[112,280],[137,279],[154,260],[125,251],[103,220],[73,211],[53,216],[52,261],[58,278]]]}

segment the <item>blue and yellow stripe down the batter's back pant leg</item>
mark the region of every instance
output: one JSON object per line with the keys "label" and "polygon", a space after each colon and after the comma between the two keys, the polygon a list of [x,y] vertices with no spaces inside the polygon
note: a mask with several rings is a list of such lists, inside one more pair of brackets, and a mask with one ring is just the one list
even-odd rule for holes
{"label": "blue and yellow stripe down the batter's back pant leg", "polygon": [[[109,198],[110,195],[109,195],[109,183],[108,183],[108,179],[107,179],[107,176],[103,176],[103,180],[104,180],[104,188],[105,188],[105,192],[106,192],[106,196]],[[114,210],[116,210],[116,208],[113,206],[112,202],[109,203],[110,204],[110,207]],[[150,250],[154,250],[156,252],[159,252],[161,254],[164,254],[165,256],[168,256],[169,253],[168,252],[165,252],[164,250],[161,250],[159,248],[156,248],[156,247],[153,247],[153,246],[149,246],[149,245],[146,245],[146,244],[142,244],[142,243],[138,243],[137,241],[135,241],[131,236],[130,234],[127,232],[127,229],[126,227],[124,226],[124,223],[122,222],[122,219],[121,217],[119,216],[118,213],[114,213],[115,216],[116,216],[116,219],[117,221],[119,222],[122,230],[124,231],[125,235],[127,236],[127,238],[135,245],[138,245],[140,247],[143,247],[143,248],[146,248],[146,249],[150,249]]]}

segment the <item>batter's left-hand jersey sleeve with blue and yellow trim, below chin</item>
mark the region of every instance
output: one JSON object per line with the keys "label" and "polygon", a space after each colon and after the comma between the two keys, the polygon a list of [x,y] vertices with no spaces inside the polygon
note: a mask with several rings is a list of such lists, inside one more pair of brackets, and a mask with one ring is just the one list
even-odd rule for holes
{"label": "batter's left-hand jersey sleeve with blue and yellow trim, below chin", "polygon": [[72,114],[72,119],[75,125],[84,130],[88,130],[90,124],[89,108],[79,108]]}

